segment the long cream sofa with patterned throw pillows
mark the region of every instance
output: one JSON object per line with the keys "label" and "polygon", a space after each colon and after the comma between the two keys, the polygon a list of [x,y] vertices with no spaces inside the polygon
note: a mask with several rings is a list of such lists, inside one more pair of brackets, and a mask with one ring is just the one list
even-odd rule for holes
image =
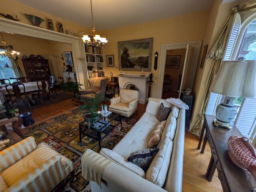
{"label": "long cream sofa with patterned throw pillows", "polygon": [[[148,148],[152,130],[160,123],[156,114],[161,103],[171,107],[172,112],[160,142],[155,146],[160,150],[145,173],[127,158],[134,151]],[[179,109],[164,99],[149,98],[146,112],[113,150],[101,149],[100,154],[114,163],[103,172],[102,188],[90,181],[92,192],[182,192],[184,132],[185,109]],[[90,159],[83,156],[82,161]]]}

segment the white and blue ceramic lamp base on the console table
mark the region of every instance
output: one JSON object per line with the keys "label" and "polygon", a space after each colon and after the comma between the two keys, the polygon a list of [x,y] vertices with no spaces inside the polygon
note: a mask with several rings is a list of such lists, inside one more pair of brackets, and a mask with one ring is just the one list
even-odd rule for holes
{"label": "white and blue ceramic lamp base on the console table", "polygon": [[214,121],[216,127],[231,129],[230,122],[237,114],[237,108],[234,105],[235,99],[236,97],[225,97],[224,102],[217,106],[216,121]]}

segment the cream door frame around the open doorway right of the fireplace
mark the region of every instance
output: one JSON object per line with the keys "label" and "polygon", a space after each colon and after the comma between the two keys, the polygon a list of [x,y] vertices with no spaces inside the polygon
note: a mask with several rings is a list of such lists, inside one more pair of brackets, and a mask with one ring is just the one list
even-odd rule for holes
{"label": "cream door frame around the open doorway right of the fireplace", "polygon": [[157,85],[156,98],[159,98],[159,99],[162,98],[166,51],[173,50],[173,49],[186,49],[188,44],[190,44],[191,46],[194,47],[193,56],[191,58],[192,65],[190,65],[188,67],[188,70],[190,71],[190,77],[188,79],[190,79],[190,82],[193,82],[192,86],[190,88],[193,89],[194,79],[195,79],[195,75],[196,75],[196,69],[198,66],[198,60],[199,60],[199,55],[200,55],[199,53],[200,53],[201,46],[202,46],[202,40],[194,41],[194,42],[175,43],[175,44],[162,44],[161,45],[161,55],[160,55],[160,63],[159,63],[158,85]]}

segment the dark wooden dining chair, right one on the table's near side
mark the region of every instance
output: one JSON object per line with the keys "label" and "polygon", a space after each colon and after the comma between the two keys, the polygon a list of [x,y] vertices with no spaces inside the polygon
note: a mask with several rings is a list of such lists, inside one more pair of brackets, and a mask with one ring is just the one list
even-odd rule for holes
{"label": "dark wooden dining chair, right one on the table's near side", "polygon": [[[39,86],[39,82],[42,83],[42,87]],[[38,96],[42,105],[44,105],[44,103],[42,102],[43,96],[47,96],[48,99],[50,98],[52,100],[52,94],[50,91],[49,80],[41,80],[41,81],[37,81],[36,83],[37,83],[38,91],[32,92],[32,98],[34,98],[35,95]],[[52,101],[52,103],[53,103],[53,101]]]}

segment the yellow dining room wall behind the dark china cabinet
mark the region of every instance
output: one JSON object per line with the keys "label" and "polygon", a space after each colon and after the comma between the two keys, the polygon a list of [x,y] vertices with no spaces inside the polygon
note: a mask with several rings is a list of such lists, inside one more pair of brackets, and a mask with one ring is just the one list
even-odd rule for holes
{"label": "yellow dining room wall behind the dark china cabinet", "polygon": [[61,56],[64,51],[72,51],[72,46],[70,44],[6,33],[3,33],[3,37],[8,45],[12,45],[15,51],[20,52],[20,58],[17,62],[24,76],[26,76],[26,72],[21,60],[23,54],[27,55],[27,57],[32,54],[44,55],[45,59],[48,59],[51,74],[54,75],[50,54],[59,53]]}

